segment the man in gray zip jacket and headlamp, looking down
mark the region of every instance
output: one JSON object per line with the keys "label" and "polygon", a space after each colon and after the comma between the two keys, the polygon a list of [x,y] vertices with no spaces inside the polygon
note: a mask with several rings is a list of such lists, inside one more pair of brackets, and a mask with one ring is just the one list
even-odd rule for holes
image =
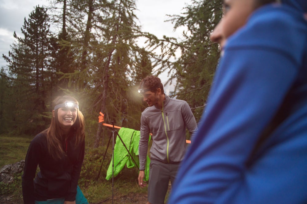
{"label": "man in gray zip jacket and headlamp, looking down", "polygon": [[173,184],[180,162],[185,155],[186,128],[193,136],[197,131],[197,124],[188,103],[169,98],[164,93],[158,77],[147,76],[142,79],[138,91],[149,106],[141,116],[138,183],[141,187],[146,186],[146,182],[143,181],[144,170],[149,134],[152,133],[147,203],[163,204],[169,180]]}

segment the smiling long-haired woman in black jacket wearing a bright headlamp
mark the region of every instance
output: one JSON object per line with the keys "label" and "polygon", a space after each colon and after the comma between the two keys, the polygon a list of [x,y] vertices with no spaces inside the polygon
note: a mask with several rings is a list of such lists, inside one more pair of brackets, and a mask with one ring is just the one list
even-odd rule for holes
{"label": "smiling long-haired woman in black jacket wearing a bright headlamp", "polygon": [[[84,117],[71,96],[57,97],[52,105],[50,127],[34,137],[25,157],[24,203],[87,204],[78,186],[84,159]],[[40,171],[35,177],[37,165]]]}

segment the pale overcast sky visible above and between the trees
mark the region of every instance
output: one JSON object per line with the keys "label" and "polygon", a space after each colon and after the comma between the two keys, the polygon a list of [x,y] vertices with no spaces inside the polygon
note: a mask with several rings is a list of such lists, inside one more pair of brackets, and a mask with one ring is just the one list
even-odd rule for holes
{"label": "pale overcast sky visible above and between the trees", "polygon": [[[137,0],[138,17],[143,32],[150,32],[161,38],[163,35],[180,37],[181,31],[173,32],[173,25],[166,14],[180,14],[189,0]],[[0,67],[6,65],[2,54],[8,55],[10,45],[14,42],[13,33],[23,37],[21,27],[24,18],[28,19],[34,7],[46,5],[46,0],[0,0]]]}

